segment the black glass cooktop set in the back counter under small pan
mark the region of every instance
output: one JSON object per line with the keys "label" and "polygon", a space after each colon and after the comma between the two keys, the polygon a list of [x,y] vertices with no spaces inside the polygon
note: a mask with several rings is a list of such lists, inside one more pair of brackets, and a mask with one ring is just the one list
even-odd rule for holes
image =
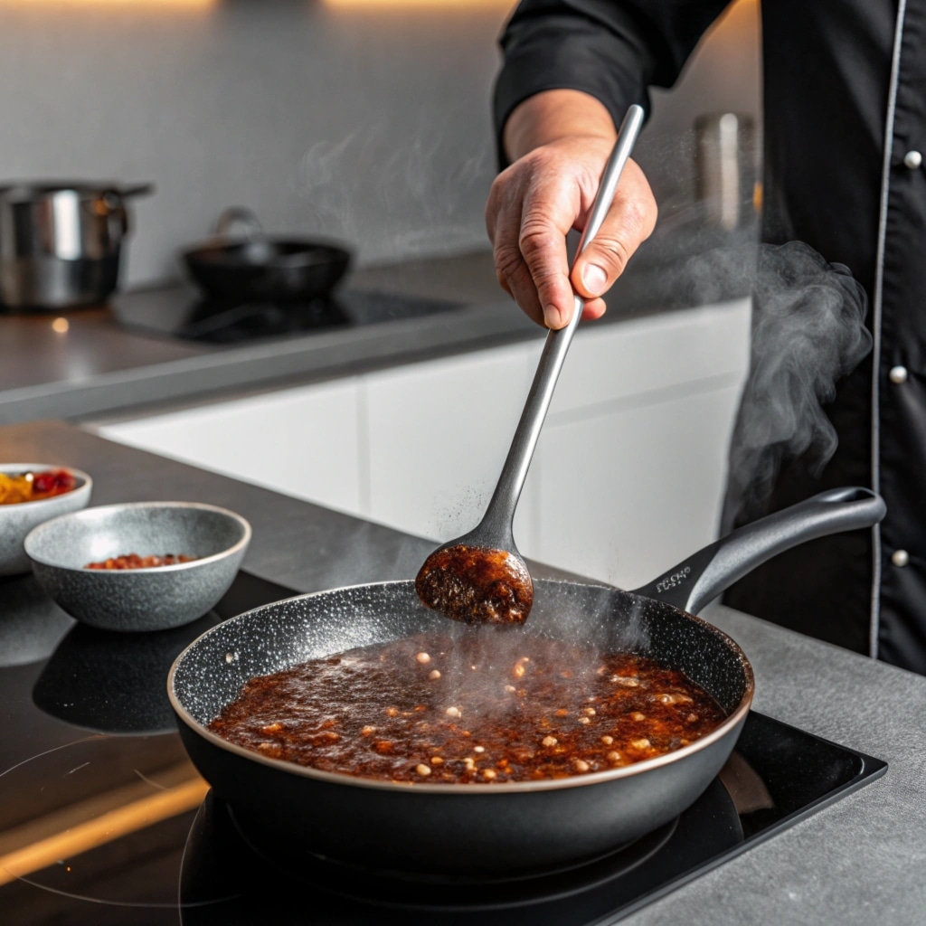
{"label": "black glass cooktop set in the back counter under small pan", "polygon": [[343,288],[305,302],[216,302],[187,286],[116,296],[113,319],[145,333],[210,344],[241,344],[334,328],[415,319],[460,307],[445,299]]}

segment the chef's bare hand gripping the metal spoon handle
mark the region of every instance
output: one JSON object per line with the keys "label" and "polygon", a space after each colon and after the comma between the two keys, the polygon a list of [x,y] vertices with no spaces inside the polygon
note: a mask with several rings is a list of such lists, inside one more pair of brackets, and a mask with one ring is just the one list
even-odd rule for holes
{"label": "chef's bare hand gripping the metal spoon handle", "polygon": [[656,224],[653,192],[629,160],[601,230],[570,274],[566,234],[584,228],[613,145],[613,132],[554,138],[499,174],[489,194],[486,228],[498,282],[548,328],[569,322],[573,290],[585,299],[583,318],[600,318],[601,296]]}

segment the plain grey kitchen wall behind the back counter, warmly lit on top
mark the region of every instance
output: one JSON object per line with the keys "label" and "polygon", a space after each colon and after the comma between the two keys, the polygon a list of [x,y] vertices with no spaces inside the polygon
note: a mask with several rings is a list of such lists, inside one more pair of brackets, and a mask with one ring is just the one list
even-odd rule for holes
{"label": "plain grey kitchen wall behind the back counter, warmly lit on top", "polygon": [[[0,0],[0,181],[154,181],[129,282],[252,206],[361,263],[483,246],[495,37],[507,0]],[[684,174],[697,112],[757,108],[741,0],[647,130]],[[663,112],[665,115],[663,115]],[[665,154],[664,152],[668,152]]]}

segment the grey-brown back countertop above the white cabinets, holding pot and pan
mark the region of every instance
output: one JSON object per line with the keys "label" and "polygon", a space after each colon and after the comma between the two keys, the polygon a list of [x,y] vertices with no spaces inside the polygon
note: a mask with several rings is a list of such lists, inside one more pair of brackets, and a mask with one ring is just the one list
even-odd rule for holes
{"label": "grey-brown back countertop above the white cabinets, holding pot and pan", "polygon": [[[650,257],[635,259],[609,294],[612,309],[604,323],[741,294],[717,292],[716,287],[700,291],[687,278],[667,272],[667,262],[680,257],[678,245],[647,246]],[[56,313],[0,314],[0,424],[182,404],[543,336],[498,288],[488,251],[359,269],[344,286],[455,305],[419,318],[248,344],[182,341],[116,322],[120,308],[130,304],[133,310],[140,306],[136,314],[176,313],[178,307],[191,305],[196,295],[184,285],[119,294],[115,311],[97,307],[69,312],[65,324],[57,323],[63,331],[54,327]]]}

